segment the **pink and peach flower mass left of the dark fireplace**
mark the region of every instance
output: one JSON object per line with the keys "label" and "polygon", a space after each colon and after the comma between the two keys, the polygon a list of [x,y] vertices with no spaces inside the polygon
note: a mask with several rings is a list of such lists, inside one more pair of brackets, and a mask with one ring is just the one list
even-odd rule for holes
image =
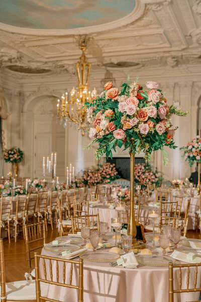
{"label": "pink and peach flower mass left of the dark fireplace", "polygon": [[94,186],[102,183],[110,183],[120,178],[115,168],[115,164],[106,163],[83,171],[81,182],[84,185]]}

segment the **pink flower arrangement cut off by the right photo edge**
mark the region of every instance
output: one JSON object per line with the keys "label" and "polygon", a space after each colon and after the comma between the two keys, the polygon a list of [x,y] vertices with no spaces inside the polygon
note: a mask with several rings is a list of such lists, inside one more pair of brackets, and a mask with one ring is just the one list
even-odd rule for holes
{"label": "pink flower arrangement cut off by the right photo edge", "polygon": [[186,146],[180,148],[185,161],[191,167],[194,163],[201,163],[201,138],[197,135]]}

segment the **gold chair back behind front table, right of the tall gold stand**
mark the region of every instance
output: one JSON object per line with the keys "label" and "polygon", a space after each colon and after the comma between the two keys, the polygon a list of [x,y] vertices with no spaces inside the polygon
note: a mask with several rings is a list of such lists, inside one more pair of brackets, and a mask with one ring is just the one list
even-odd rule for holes
{"label": "gold chair back behind front table, right of the tall gold stand", "polygon": [[182,217],[168,217],[168,216],[160,216],[159,220],[159,231],[162,232],[163,224],[170,224],[173,228],[180,228],[181,235],[186,237],[187,228],[188,228],[188,218]]}

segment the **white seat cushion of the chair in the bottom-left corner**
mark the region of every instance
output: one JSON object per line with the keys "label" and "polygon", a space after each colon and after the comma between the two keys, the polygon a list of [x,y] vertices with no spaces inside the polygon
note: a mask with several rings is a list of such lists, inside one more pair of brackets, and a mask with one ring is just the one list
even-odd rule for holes
{"label": "white seat cushion of the chair in the bottom-left corner", "polygon": [[[6,283],[7,300],[35,300],[36,285],[35,280],[22,280]],[[48,284],[40,282],[41,295],[46,296]]]}

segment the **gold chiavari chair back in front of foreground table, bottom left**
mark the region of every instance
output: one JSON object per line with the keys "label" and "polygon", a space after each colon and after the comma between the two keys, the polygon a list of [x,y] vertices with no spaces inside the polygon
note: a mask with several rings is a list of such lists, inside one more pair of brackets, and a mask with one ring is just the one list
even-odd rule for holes
{"label": "gold chiavari chair back in front of foreground table, bottom left", "polygon": [[[35,270],[36,270],[36,302],[51,301],[51,302],[59,302],[58,300],[48,298],[41,293],[41,283],[44,282],[46,284],[54,284],[61,287],[68,287],[78,289],[78,302],[83,302],[83,259],[76,260],[67,260],[55,257],[48,257],[37,255],[35,253]],[[41,260],[41,261],[40,261]],[[41,262],[40,271],[41,275],[44,277],[40,277],[39,275],[39,261]],[[56,263],[56,269],[53,271],[53,263]],[[70,264],[70,274],[69,276],[66,273],[67,264]],[[59,264],[60,268],[59,269]],[[72,277],[73,277],[73,268],[75,268],[75,264],[78,264],[78,285],[72,285]],[[49,272],[49,274],[47,273]],[[56,272],[56,275],[54,276]],[[55,281],[56,279],[56,281]],[[61,281],[62,280],[62,281]],[[68,282],[69,280],[69,282]]]}

